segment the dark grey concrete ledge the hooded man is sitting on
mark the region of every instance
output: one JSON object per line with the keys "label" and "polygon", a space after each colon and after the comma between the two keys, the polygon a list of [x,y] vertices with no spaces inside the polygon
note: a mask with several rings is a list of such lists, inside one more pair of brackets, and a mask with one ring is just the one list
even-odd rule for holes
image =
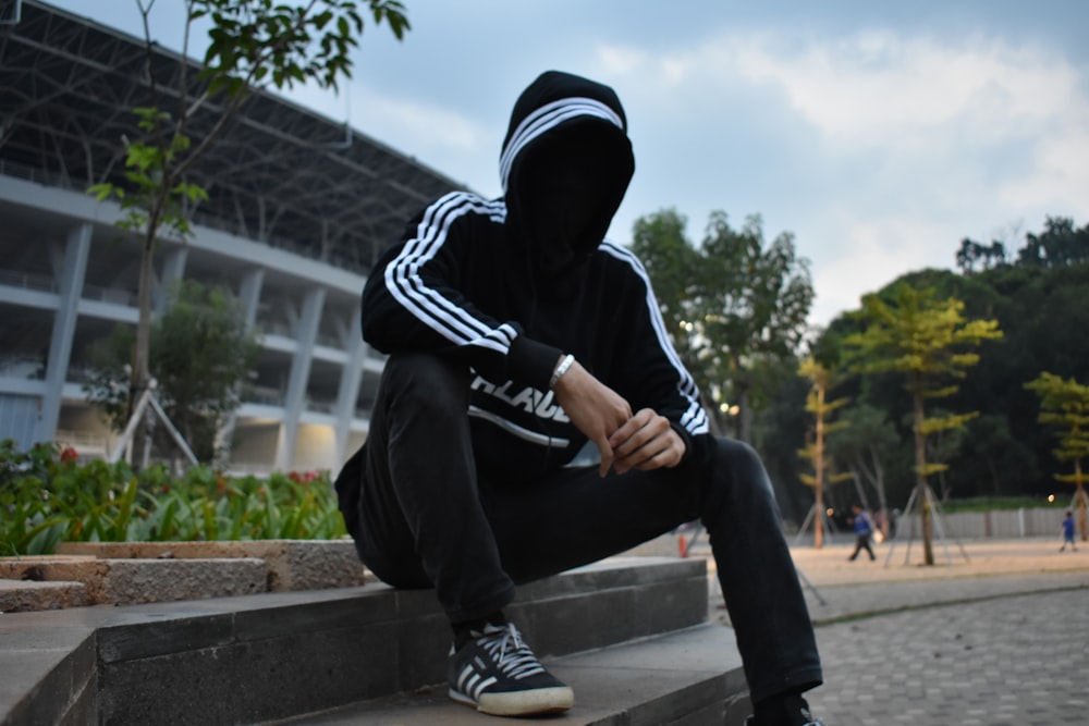
{"label": "dark grey concrete ledge the hooded man is sitting on", "polygon": [[[705,623],[707,600],[702,559],[614,559],[523,588],[509,613],[547,657]],[[442,682],[449,642],[432,591],[380,583],[10,613],[0,725],[282,719]]]}

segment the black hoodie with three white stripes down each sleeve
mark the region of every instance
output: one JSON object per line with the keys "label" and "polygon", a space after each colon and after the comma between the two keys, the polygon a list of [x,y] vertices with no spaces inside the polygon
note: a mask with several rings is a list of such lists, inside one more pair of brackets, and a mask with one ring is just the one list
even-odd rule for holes
{"label": "black hoodie with three white stripes down each sleeve", "polygon": [[[477,465],[533,479],[586,443],[548,387],[565,353],[633,410],[701,448],[707,418],[665,334],[643,266],[604,241],[635,169],[608,86],[550,71],[518,98],[504,196],[452,193],[418,214],[363,292],[363,335],[384,353],[432,350],[473,370]],[[697,454],[698,456],[698,454]]]}

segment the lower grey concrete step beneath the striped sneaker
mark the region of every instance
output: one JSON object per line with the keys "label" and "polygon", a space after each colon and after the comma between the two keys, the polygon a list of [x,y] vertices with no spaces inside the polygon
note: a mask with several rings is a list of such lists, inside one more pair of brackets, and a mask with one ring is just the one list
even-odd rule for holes
{"label": "lower grey concrete step beneath the striped sneaker", "polygon": [[[592,651],[546,659],[575,691],[565,726],[723,726],[749,713],[734,632],[703,624]],[[495,726],[446,697],[444,685],[307,714],[269,726]]]}

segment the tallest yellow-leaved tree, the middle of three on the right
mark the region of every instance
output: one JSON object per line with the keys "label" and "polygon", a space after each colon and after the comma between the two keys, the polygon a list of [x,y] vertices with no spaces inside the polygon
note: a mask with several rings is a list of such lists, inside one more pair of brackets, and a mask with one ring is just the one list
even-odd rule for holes
{"label": "tallest yellow-leaved tree, the middle of three on the right", "polygon": [[927,478],[947,468],[927,460],[927,438],[963,427],[978,414],[926,415],[926,402],[946,398],[957,385],[950,379],[966,377],[965,369],[979,362],[979,355],[966,353],[984,340],[1002,336],[995,320],[966,320],[964,303],[956,298],[938,299],[933,288],[917,290],[896,285],[890,300],[870,294],[862,297],[862,310],[856,313],[865,323],[860,333],[844,339],[852,350],[853,369],[860,373],[894,372],[904,377],[904,389],[911,398],[915,439],[916,494],[922,522],[925,563],[934,564],[932,521]]}

